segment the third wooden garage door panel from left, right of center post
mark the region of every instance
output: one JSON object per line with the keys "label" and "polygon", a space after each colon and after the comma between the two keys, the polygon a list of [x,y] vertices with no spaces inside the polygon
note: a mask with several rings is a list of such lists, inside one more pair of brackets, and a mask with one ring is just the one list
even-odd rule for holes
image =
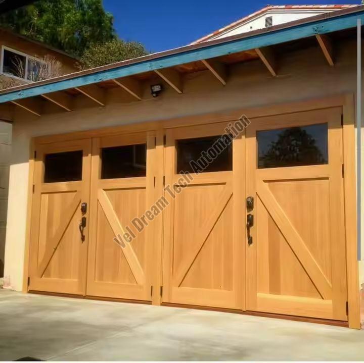
{"label": "third wooden garage door panel from left, right of center post", "polygon": [[244,308],[244,140],[198,175],[190,164],[199,164],[225,126],[166,132],[163,302]]}

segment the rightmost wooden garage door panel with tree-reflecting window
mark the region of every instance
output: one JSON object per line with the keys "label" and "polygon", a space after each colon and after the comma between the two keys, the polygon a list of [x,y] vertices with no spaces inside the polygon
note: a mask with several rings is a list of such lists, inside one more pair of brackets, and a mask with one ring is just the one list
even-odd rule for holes
{"label": "rightmost wooden garage door panel with tree-reflecting window", "polygon": [[247,310],[346,321],[341,108],[252,120]]}

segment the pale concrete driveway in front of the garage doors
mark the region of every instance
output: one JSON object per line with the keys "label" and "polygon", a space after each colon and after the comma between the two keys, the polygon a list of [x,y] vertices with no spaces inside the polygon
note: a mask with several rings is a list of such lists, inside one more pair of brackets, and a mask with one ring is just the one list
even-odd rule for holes
{"label": "pale concrete driveway in front of the garage doors", "polygon": [[364,360],[364,331],[0,289],[0,359]]}

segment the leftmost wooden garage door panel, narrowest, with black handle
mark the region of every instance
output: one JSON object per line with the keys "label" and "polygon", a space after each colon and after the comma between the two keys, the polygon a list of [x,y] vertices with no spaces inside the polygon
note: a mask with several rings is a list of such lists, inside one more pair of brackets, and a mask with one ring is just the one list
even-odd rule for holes
{"label": "leftmost wooden garage door panel, narrowest, with black handle", "polygon": [[30,290],[85,292],[88,212],[81,203],[89,200],[90,153],[89,139],[36,148]]}

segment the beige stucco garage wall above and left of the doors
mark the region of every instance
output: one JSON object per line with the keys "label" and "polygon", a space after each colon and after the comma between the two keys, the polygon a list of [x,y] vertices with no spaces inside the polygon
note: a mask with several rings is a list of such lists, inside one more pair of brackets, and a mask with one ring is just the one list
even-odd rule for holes
{"label": "beige stucco garage wall above and left of the doors", "polygon": [[[7,286],[16,290],[22,288],[31,137],[353,93],[356,89],[355,42],[339,45],[334,67],[327,64],[317,46],[280,57],[279,75],[275,78],[261,62],[253,61],[231,66],[226,86],[205,71],[186,77],[183,94],[165,85],[163,93],[152,98],[150,85],[145,84],[142,101],[125,103],[127,94],[123,96],[122,90],[116,89],[110,91],[108,105],[103,108],[80,96],[72,113],[50,106],[52,114],[37,118],[17,109],[10,171]],[[364,283],[363,275],[361,283]]]}

